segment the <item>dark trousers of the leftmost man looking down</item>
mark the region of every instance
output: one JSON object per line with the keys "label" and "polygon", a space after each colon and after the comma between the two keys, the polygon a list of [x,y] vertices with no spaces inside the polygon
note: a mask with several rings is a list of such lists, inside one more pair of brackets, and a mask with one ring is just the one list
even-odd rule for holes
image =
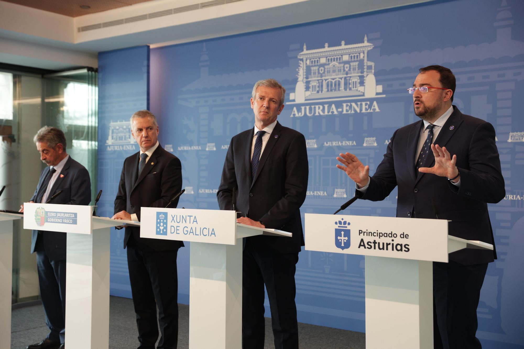
{"label": "dark trousers of the leftmost man looking down", "polygon": [[38,233],[35,245],[38,283],[46,324],[47,337],[53,342],[65,339],[65,259],[50,260],[43,246],[42,233]]}

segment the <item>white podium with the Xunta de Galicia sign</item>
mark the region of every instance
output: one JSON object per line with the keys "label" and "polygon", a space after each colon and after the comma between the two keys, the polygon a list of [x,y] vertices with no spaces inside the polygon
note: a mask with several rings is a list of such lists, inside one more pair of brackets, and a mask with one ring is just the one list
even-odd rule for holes
{"label": "white podium with the Xunta de Galicia sign", "polygon": [[291,233],[236,223],[234,211],[141,208],[140,237],[191,242],[189,347],[242,347],[242,238]]}

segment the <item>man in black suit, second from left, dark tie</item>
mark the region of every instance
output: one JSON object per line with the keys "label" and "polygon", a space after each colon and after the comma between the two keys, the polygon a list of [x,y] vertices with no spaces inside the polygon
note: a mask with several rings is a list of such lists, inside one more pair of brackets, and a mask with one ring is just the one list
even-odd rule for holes
{"label": "man in black suit, second from left, dark tie", "polygon": [[[141,110],[131,117],[132,135],[140,151],[124,161],[113,219],[140,221],[140,208],[166,207],[182,189],[180,160],[158,143],[155,115]],[[176,208],[178,199],[171,203]],[[127,226],[129,281],[138,326],[139,349],[174,349],[178,342],[177,253],[184,244],[140,237],[140,228]]]}

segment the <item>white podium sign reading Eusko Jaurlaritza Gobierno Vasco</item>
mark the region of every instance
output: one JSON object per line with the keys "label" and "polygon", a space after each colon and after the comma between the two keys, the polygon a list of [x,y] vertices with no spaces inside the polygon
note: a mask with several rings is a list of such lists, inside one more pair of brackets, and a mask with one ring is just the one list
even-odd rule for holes
{"label": "white podium sign reading Eusko Jaurlaritza Gobierno Vasco", "polygon": [[24,229],[91,234],[92,206],[24,203]]}

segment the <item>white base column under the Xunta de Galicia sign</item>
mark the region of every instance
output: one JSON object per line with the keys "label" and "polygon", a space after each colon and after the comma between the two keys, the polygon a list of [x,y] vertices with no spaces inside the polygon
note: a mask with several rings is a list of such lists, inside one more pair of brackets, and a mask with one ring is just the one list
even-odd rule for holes
{"label": "white base column under the Xunta de Galicia sign", "polygon": [[191,242],[189,347],[242,347],[242,239]]}

